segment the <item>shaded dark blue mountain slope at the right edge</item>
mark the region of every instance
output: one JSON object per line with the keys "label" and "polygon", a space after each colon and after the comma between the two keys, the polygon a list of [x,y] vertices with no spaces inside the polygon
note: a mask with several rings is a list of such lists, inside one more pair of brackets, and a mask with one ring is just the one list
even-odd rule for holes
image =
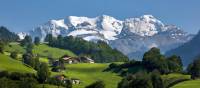
{"label": "shaded dark blue mountain slope at the right edge", "polygon": [[183,44],[182,46],[170,50],[166,55],[176,54],[181,56],[183,64],[188,65],[191,63],[195,57],[200,55],[200,32],[189,42]]}

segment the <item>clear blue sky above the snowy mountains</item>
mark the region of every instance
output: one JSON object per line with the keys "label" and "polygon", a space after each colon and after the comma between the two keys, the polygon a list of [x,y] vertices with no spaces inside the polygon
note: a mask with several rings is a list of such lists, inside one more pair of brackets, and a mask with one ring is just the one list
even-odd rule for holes
{"label": "clear blue sky above the snowy mountains", "polygon": [[200,0],[0,0],[0,25],[28,31],[50,19],[67,16],[117,19],[152,14],[163,23],[196,33],[200,29]]}

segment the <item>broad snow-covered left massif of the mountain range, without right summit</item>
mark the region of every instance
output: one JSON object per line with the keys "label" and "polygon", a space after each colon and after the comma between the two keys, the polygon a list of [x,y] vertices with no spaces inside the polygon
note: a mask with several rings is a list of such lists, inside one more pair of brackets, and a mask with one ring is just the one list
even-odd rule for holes
{"label": "broad snow-covered left massif of the mountain range, without right summit", "polygon": [[115,40],[123,28],[123,22],[110,16],[96,18],[69,16],[66,19],[51,20],[30,32],[44,40],[49,33],[53,36],[77,36],[85,40]]}

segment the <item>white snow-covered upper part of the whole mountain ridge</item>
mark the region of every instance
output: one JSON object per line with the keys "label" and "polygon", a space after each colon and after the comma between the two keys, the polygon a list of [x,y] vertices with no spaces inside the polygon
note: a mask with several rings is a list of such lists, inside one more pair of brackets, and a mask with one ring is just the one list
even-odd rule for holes
{"label": "white snow-covered upper part of the whole mountain ridge", "polygon": [[[172,30],[171,30],[172,29]],[[125,21],[117,20],[108,15],[101,15],[94,18],[69,16],[67,19],[50,20],[44,25],[37,27],[34,31],[39,31],[40,36],[47,33],[53,36],[97,36],[101,40],[115,40],[118,35],[134,34],[138,36],[154,36],[167,30],[177,30],[176,26],[167,26],[152,15],[143,15],[138,18],[129,18]],[[38,34],[36,34],[38,36]],[[87,36],[86,36],[87,35]],[[129,35],[127,35],[129,36]]]}

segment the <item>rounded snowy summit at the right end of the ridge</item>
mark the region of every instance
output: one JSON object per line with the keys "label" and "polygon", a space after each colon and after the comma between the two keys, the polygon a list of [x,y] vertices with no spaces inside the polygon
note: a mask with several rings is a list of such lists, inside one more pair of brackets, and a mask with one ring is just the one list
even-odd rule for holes
{"label": "rounded snowy summit at the right end of the ridge", "polygon": [[153,36],[166,31],[164,24],[152,15],[143,15],[140,18],[126,19],[124,30],[139,36]]}

